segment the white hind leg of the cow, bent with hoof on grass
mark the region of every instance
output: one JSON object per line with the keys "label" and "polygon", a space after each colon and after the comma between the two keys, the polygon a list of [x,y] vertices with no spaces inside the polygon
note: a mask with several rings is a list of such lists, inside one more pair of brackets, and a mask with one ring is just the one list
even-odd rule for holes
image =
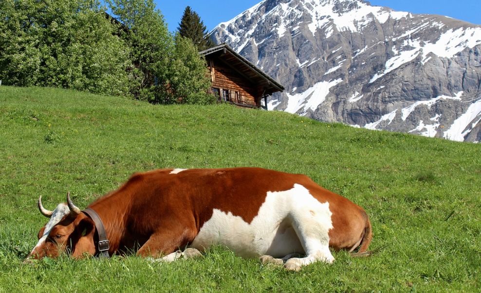
{"label": "white hind leg of the cow, bent with hoof on grass", "polygon": [[332,213],[329,203],[301,206],[292,212],[292,221],[296,234],[306,252],[305,258],[292,258],[284,267],[299,271],[302,266],[316,261],[332,263],[334,257],[329,250],[329,229],[333,228]]}

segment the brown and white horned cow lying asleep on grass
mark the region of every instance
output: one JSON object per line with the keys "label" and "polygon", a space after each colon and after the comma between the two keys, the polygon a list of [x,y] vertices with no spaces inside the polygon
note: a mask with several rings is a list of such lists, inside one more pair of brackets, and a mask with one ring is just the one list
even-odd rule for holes
{"label": "brown and white horned cow lying asleep on grass", "polygon": [[134,173],[83,211],[69,193],[67,203],[53,211],[42,206],[40,196],[38,208],[50,220],[29,261],[132,251],[173,260],[186,248],[204,252],[220,244],[240,257],[285,262],[285,268],[298,271],[315,261],[332,263],[330,249],[364,252],[372,237],[362,207],[308,176],[261,168]]}

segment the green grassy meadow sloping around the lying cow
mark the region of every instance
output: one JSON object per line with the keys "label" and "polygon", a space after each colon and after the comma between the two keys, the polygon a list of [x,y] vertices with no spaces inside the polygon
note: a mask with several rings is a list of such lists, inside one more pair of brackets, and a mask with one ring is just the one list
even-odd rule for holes
{"label": "green grassy meadow sloping around the lying cow", "polygon": [[[0,292],[478,292],[481,145],[321,123],[230,105],[159,106],[0,86]],[[256,166],[304,173],[364,207],[377,255],[300,273],[214,248],[170,264],[136,257],[22,260],[37,209],[87,207],[132,172]]]}

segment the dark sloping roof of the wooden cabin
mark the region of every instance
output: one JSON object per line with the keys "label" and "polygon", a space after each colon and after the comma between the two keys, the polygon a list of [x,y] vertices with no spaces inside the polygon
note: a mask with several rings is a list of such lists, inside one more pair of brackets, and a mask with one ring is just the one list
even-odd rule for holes
{"label": "dark sloping roof of the wooden cabin", "polygon": [[232,50],[232,48],[225,43],[201,51],[199,54],[204,55],[206,59],[217,58],[257,86],[264,86],[264,95],[271,95],[277,91],[282,92],[284,89],[286,89],[275,79],[264,73],[257,66],[250,63],[247,59]]}

